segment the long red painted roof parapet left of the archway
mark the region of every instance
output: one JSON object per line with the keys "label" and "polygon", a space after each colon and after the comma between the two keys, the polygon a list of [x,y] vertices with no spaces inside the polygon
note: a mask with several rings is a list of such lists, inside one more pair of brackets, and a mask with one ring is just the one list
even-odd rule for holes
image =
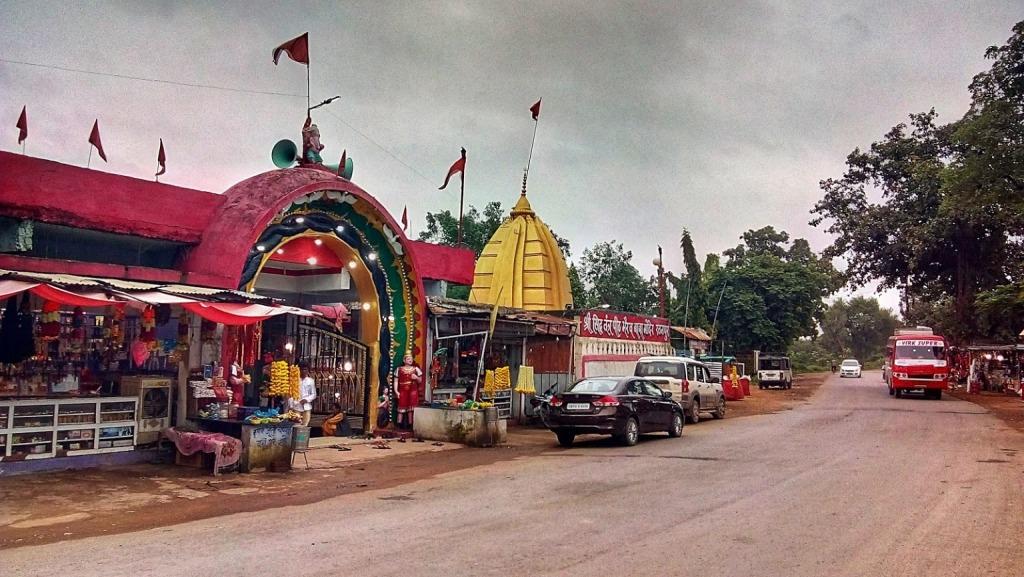
{"label": "long red painted roof parapet left of the archway", "polygon": [[0,152],[0,215],[198,243],[220,195]]}

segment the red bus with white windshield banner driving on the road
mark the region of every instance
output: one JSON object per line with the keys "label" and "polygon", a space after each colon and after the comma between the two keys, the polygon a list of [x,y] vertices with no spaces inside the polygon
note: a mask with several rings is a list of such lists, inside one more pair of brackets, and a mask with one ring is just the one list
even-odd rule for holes
{"label": "red bus with white windshield banner driving on the road", "polygon": [[942,399],[949,382],[946,339],[932,329],[897,329],[886,345],[886,360],[889,395],[923,393],[928,399]]}

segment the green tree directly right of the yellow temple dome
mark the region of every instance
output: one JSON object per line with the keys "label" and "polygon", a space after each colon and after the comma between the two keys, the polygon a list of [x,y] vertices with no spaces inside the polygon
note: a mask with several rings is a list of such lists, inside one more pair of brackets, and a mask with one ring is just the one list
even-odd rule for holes
{"label": "green tree directly right of the yellow temple dome", "polygon": [[656,292],[632,263],[633,253],[622,243],[598,243],[583,251],[580,277],[585,302],[607,304],[614,311],[650,314],[657,302]]}

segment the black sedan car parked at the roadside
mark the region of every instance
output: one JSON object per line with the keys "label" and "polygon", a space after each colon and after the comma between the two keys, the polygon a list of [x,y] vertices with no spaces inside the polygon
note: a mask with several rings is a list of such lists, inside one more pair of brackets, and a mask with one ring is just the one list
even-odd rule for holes
{"label": "black sedan car parked at the roadside", "polygon": [[611,435],[627,446],[644,432],[683,434],[683,408],[672,394],[638,377],[593,377],[551,397],[543,411],[544,423],[569,447],[577,435]]}

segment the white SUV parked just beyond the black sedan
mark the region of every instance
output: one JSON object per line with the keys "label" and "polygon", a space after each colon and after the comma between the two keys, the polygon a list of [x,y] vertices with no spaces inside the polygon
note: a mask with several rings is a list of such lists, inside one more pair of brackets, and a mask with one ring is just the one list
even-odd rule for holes
{"label": "white SUV parked just beyond the black sedan", "polygon": [[717,419],[725,417],[725,390],[718,377],[712,377],[708,366],[689,357],[641,357],[634,375],[653,381],[663,390],[672,393],[683,410],[686,420],[695,423],[702,411]]}

